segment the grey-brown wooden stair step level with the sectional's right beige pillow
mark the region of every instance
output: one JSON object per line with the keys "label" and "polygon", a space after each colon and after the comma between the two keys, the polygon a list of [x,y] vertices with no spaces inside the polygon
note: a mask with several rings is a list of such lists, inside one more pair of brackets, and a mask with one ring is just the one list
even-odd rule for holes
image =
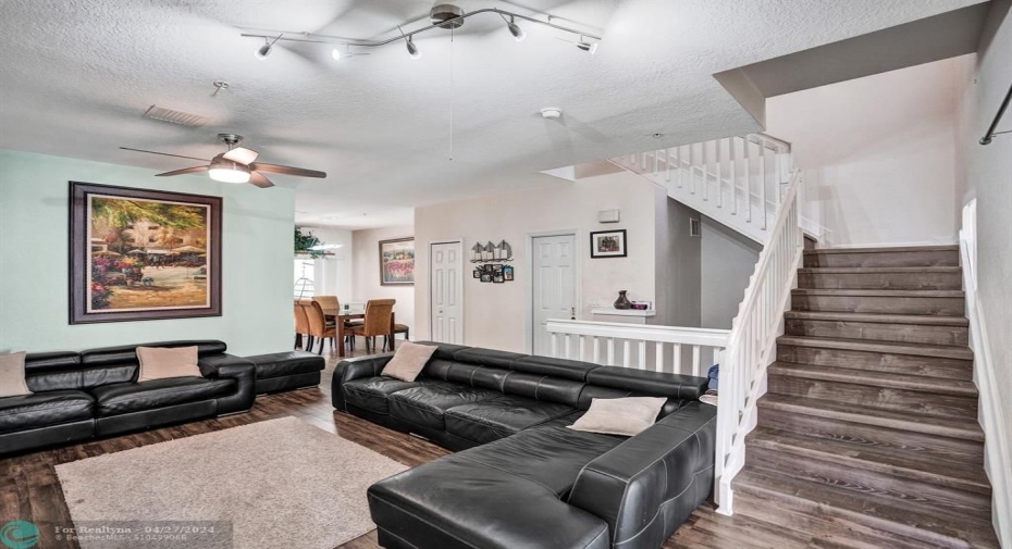
{"label": "grey-brown wooden stair step level with the sectional's right beige pillow", "polygon": [[[804,397],[767,394],[757,402],[760,409],[768,408],[791,413],[814,415],[879,427],[914,431],[928,435],[984,441],[984,432],[976,420],[925,415],[916,412],[901,412],[880,408],[854,408],[850,402],[835,402]],[[760,415],[762,417],[762,414]],[[762,420],[760,420],[762,421]]]}

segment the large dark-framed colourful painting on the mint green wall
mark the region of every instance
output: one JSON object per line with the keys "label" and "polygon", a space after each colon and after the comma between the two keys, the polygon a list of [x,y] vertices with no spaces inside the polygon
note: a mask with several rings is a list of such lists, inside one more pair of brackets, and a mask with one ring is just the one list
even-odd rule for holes
{"label": "large dark-framed colourful painting on the mint green wall", "polygon": [[221,198],[70,182],[70,322],[221,315]]}

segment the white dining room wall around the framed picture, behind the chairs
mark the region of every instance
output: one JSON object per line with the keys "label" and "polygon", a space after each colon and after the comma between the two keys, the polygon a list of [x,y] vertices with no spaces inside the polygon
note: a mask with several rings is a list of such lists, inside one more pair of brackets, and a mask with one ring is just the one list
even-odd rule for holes
{"label": "white dining room wall around the framed picture, behind the chairs", "polygon": [[[380,284],[380,240],[406,238],[415,235],[415,227],[403,225],[396,227],[369,228],[351,233],[353,301],[365,303],[370,299],[396,299],[394,317],[397,324],[404,324],[411,330],[411,339],[421,339],[415,326],[415,289],[418,286],[418,264],[416,262],[415,285],[382,286]],[[418,257],[418,242],[415,242],[415,255]],[[341,296],[338,295],[340,299]]]}

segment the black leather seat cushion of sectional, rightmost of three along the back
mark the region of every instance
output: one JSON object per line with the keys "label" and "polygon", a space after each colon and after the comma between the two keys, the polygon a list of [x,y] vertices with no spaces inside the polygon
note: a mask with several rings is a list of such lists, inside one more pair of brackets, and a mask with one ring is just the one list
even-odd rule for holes
{"label": "black leather seat cushion of sectional, rightmost of three along the back", "polygon": [[572,413],[573,408],[554,402],[503,395],[490,400],[451,408],[444,414],[446,432],[479,444],[507,437]]}

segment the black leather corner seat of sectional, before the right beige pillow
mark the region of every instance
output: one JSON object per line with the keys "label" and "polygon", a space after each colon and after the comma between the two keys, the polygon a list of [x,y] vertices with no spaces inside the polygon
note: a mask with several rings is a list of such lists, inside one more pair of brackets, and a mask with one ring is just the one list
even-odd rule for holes
{"label": "black leather corner seat of sectional, before the right beige pillow", "polygon": [[535,482],[565,499],[580,470],[624,440],[557,425],[539,426],[455,456]]}

